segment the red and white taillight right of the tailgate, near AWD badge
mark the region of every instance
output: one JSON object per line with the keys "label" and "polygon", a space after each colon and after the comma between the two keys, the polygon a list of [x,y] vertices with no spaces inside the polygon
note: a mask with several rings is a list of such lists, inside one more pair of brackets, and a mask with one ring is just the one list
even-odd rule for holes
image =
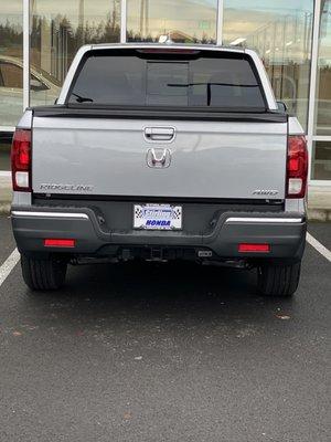
{"label": "red and white taillight right of the tailgate, near AWD badge", "polygon": [[302,135],[288,137],[287,198],[303,198],[307,188],[308,151]]}

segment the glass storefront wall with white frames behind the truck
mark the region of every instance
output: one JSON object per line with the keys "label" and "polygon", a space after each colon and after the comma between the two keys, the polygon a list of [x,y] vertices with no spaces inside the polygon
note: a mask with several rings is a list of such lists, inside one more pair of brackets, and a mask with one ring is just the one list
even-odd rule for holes
{"label": "glass storefront wall with white frames behind the truck", "polygon": [[[277,98],[308,134],[311,179],[331,182],[331,0],[0,0],[0,130],[12,129],[23,109],[29,3],[31,105],[54,102],[84,43],[221,38],[259,53]],[[8,168],[1,155],[0,170]]]}

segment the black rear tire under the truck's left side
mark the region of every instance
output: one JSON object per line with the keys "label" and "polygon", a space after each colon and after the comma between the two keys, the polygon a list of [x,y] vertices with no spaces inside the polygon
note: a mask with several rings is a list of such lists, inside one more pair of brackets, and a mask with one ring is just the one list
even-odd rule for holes
{"label": "black rear tire under the truck's left side", "polygon": [[64,284],[67,263],[55,256],[38,259],[21,254],[21,267],[28,287],[33,291],[54,291]]}

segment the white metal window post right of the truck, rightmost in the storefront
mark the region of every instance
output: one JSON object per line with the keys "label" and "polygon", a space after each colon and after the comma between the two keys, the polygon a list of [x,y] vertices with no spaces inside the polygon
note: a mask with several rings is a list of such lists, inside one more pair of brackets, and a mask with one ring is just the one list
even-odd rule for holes
{"label": "white metal window post right of the truck, rightmost in the storefront", "polygon": [[313,11],[313,29],[312,29],[312,46],[311,46],[311,66],[310,66],[310,90],[308,106],[308,152],[309,152],[309,182],[311,180],[312,166],[312,140],[316,115],[316,97],[317,97],[317,78],[318,78],[318,56],[319,56],[319,35],[320,35],[320,14],[321,0],[316,0]]}

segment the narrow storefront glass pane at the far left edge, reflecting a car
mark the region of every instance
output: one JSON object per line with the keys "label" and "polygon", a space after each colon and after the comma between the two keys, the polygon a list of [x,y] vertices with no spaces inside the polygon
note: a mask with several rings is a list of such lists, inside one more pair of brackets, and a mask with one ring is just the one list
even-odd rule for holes
{"label": "narrow storefront glass pane at the far left edge, reflecting a car", "polygon": [[0,0],[0,130],[15,126],[23,109],[22,0]]}

